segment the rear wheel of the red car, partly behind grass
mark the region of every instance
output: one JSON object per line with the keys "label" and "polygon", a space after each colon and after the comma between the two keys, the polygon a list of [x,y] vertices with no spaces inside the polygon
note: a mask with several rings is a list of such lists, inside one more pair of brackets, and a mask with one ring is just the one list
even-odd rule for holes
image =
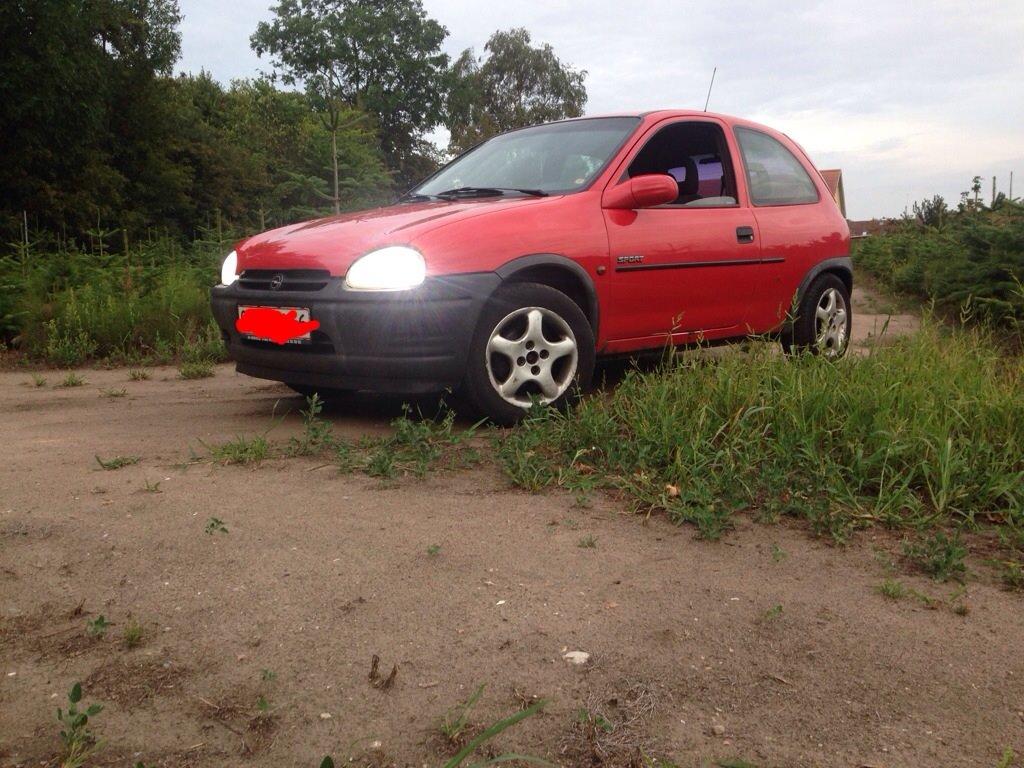
{"label": "rear wheel of the red car, partly behind grass", "polygon": [[852,324],[850,291],[838,275],[826,272],[804,292],[793,326],[782,335],[782,349],[839,359],[850,346]]}

